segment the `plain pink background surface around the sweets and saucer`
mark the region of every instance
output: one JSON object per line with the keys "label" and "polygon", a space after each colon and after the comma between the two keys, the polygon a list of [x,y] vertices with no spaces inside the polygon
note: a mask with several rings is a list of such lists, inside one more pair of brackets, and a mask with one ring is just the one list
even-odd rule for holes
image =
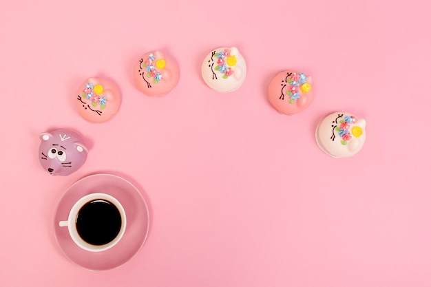
{"label": "plain pink background surface around the sweets and saucer", "polygon": [[[431,286],[429,1],[3,2],[0,286]],[[229,94],[200,78],[224,45],[248,65]],[[150,50],[180,65],[164,98],[132,82]],[[314,77],[295,116],[266,100],[289,68]],[[75,109],[90,76],[123,92],[107,123]],[[367,120],[353,158],[315,145],[333,111]],[[67,177],[37,156],[56,127],[91,147]],[[138,186],[151,228],[136,257],[94,272],[63,255],[53,219],[73,182],[103,171]]]}

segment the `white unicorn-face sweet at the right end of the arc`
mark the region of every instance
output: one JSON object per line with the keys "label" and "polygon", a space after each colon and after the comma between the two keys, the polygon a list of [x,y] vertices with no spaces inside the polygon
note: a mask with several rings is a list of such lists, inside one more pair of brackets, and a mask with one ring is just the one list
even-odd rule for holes
{"label": "white unicorn-face sweet at the right end of the arc", "polygon": [[317,145],[333,158],[353,156],[364,146],[365,126],[364,118],[344,112],[330,114],[317,125]]}

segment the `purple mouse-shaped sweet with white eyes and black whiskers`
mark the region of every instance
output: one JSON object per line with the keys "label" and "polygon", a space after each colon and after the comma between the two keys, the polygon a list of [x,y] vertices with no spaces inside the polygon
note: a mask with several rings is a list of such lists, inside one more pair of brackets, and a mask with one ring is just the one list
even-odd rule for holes
{"label": "purple mouse-shaped sweet with white eyes and black whiskers", "polygon": [[68,176],[77,171],[87,158],[87,147],[78,134],[67,129],[42,133],[39,161],[53,176]]}

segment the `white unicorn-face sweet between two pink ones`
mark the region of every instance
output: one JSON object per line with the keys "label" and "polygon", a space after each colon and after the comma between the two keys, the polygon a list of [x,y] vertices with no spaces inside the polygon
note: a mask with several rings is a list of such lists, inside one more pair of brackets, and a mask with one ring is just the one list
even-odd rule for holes
{"label": "white unicorn-face sweet between two pink ones", "polygon": [[245,81],[247,67],[236,47],[212,50],[202,63],[202,78],[217,92],[232,92]]}

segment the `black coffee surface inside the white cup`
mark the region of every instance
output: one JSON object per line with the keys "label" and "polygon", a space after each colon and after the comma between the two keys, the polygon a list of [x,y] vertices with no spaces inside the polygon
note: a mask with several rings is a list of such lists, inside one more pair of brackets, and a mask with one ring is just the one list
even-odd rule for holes
{"label": "black coffee surface inside the white cup", "polygon": [[76,229],[81,238],[93,245],[112,242],[121,228],[120,211],[112,202],[93,200],[78,212]]}

